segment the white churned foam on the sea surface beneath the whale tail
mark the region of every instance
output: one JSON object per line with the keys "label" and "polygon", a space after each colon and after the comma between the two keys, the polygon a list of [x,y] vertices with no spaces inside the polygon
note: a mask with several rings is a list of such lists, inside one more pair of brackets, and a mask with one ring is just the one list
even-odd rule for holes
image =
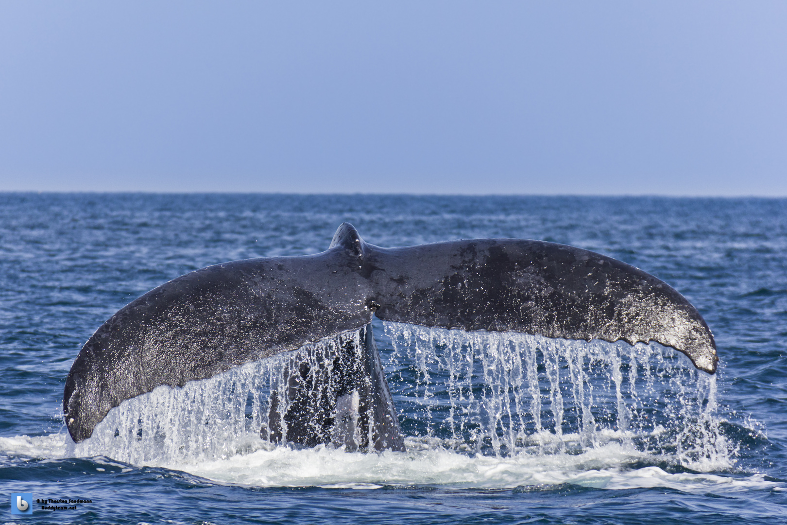
{"label": "white churned foam on the sea surface beneath the whale tail", "polygon": [[[68,457],[66,434],[0,438],[0,453],[38,459]],[[198,463],[167,462],[157,466],[187,471],[216,482],[245,486],[321,486],[373,490],[382,486],[439,486],[450,489],[511,489],[520,486],[571,484],[607,490],[665,487],[704,494],[741,490],[787,490],[784,483],[763,475],[745,477],[719,473],[670,473],[649,466],[630,469],[634,462],[665,460],[619,442],[580,454],[523,451],[511,457],[460,453],[434,442],[408,439],[408,452],[349,453],[330,446],[292,449],[264,447],[227,459]],[[674,458],[672,458],[674,460]],[[129,471],[126,465],[96,457],[98,464]]]}

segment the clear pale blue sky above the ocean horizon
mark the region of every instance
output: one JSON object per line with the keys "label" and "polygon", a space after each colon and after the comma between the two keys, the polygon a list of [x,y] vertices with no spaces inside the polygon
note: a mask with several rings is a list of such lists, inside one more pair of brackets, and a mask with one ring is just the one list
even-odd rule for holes
{"label": "clear pale blue sky above the ocean horizon", "polygon": [[787,196],[787,2],[7,2],[0,190]]}

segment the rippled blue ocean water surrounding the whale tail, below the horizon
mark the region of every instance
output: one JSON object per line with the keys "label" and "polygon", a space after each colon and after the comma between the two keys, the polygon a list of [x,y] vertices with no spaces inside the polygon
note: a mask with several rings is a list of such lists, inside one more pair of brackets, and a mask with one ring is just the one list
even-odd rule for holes
{"label": "rippled blue ocean water surrounding the whale tail, below the horizon", "polygon": [[[204,430],[199,453],[69,443],[65,377],[113,312],[209,264],[320,252],[343,221],[379,246],[536,238],[634,264],[700,310],[719,372],[657,345],[375,321],[407,453],[270,446],[244,434],[243,413],[234,434]],[[0,194],[0,283],[3,497],[91,500],[6,507],[6,523],[787,521],[784,199]],[[192,394],[224,409],[224,386],[260,369]],[[172,420],[151,399],[123,413]]]}

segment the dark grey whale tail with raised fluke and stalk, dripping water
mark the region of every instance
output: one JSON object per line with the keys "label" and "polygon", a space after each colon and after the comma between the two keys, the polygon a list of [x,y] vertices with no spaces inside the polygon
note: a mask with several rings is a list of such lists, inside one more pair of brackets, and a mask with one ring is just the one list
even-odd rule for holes
{"label": "dark grey whale tail with raised fluke and stalk, dripping water", "polygon": [[116,312],[68,373],[68,432],[81,442],[109,410],[157,386],[183,386],[331,337],[339,344],[330,355],[290,361],[286,389],[271,394],[260,434],[302,446],[404,450],[372,316],[464,331],[655,341],[710,374],[718,361],[708,324],[689,301],[611,257],[518,238],[381,248],[344,223],[322,253],[202,268]]}

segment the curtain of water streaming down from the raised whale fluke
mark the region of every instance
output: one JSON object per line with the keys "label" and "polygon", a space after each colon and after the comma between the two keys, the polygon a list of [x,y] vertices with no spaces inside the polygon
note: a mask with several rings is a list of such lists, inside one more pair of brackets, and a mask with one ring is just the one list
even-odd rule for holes
{"label": "curtain of water streaming down from the raised whale fluke", "polygon": [[[715,376],[672,349],[397,323],[380,337],[408,448],[553,455],[619,442],[684,463],[729,454],[715,419]],[[182,388],[160,386],[110,411],[76,453],[163,465],[291,446],[272,439],[271,399],[290,399],[290,371],[309,363],[320,373],[320,363],[363,338],[349,331]],[[330,377],[312,386],[335,406],[342,390]]]}

